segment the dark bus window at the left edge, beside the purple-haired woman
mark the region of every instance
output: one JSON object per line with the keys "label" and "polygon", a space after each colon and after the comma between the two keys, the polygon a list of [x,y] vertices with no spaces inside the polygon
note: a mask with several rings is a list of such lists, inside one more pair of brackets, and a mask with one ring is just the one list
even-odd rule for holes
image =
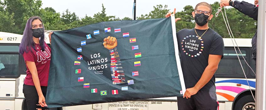
{"label": "dark bus window at the left edge, beside the purple-haired woman", "polygon": [[19,75],[19,46],[0,46],[0,76]]}

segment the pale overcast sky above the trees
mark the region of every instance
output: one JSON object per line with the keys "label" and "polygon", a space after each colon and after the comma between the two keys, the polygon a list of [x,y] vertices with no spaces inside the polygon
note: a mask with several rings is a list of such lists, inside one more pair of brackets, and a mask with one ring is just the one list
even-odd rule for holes
{"label": "pale overcast sky above the trees", "polygon": [[[168,5],[168,9],[171,9],[170,11],[173,11],[174,8],[177,11],[181,11],[186,5],[195,7],[200,2],[212,4],[215,1],[220,0],[136,0],[136,16],[148,14],[153,10],[153,6],[158,4]],[[254,0],[245,1],[254,4]],[[75,12],[79,18],[85,17],[86,14],[93,16],[95,13],[100,12],[103,3],[107,15],[115,15],[122,19],[124,17],[132,18],[134,0],[42,0],[42,3],[42,8],[52,7],[56,12],[60,13],[69,9],[69,11]]]}

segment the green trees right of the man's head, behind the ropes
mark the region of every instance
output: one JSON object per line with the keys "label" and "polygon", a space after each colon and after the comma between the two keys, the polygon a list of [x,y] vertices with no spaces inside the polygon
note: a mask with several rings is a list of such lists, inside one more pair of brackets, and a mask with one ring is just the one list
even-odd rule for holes
{"label": "green trees right of the man's head, behind the ropes", "polygon": [[[211,4],[211,6],[213,14],[215,16],[215,13],[218,10],[217,8],[220,7],[219,2],[215,2],[214,4]],[[224,9],[222,9],[222,11],[224,13]],[[231,26],[231,30],[235,38],[253,37],[256,31],[257,23],[255,20],[242,14],[235,8],[227,8],[226,12],[228,22],[230,23],[229,25]],[[220,34],[223,38],[230,38],[224,19],[222,17],[222,13],[220,13],[218,17],[213,17],[213,19],[209,21],[209,26],[218,34]]]}

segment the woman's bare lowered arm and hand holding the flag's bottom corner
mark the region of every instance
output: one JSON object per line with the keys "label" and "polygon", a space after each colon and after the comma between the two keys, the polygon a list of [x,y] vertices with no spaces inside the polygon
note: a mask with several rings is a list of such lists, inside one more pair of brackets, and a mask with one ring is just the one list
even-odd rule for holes
{"label": "woman's bare lowered arm and hand holding the flag's bottom corner", "polygon": [[39,104],[41,107],[47,107],[47,105],[45,103],[45,97],[43,96],[43,93],[41,91],[40,80],[39,80],[39,76],[38,76],[35,62],[26,61],[26,65],[28,66],[29,71],[32,75],[32,80],[33,80],[33,83],[35,85],[35,88],[36,88],[38,96],[39,96]]}

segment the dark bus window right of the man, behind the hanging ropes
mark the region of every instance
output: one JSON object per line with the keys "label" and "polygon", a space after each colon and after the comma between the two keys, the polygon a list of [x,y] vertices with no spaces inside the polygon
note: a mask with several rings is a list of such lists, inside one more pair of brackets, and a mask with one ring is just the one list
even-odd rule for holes
{"label": "dark bus window right of the man, behind the hanging ropes", "polygon": [[[248,60],[249,54],[247,48],[240,48],[244,58]],[[238,51],[237,51],[238,52]],[[247,64],[245,63],[244,59],[242,58],[240,52],[238,52],[238,57],[240,58],[241,64],[245,73],[247,74]],[[224,51],[224,58],[220,61],[217,71],[215,72],[216,78],[226,78],[231,76],[231,78],[242,78],[244,77],[241,65],[238,61],[237,54],[232,47],[226,47]]]}

